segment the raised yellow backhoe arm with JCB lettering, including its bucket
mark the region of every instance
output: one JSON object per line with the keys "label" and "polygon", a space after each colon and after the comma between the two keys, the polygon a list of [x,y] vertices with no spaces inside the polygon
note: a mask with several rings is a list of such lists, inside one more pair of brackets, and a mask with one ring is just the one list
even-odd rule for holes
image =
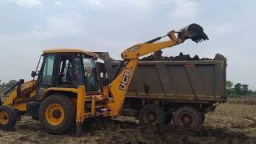
{"label": "raised yellow backhoe arm with JCB lettering, including its bucket", "polygon": [[[178,34],[178,36],[175,34]],[[170,38],[169,41],[156,42],[166,36]],[[121,56],[124,59],[123,62],[127,62],[126,66],[120,73],[117,74],[116,78],[114,78],[114,81],[110,82],[110,84],[104,88],[104,94],[110,94],[110,97],[113,97],[113,101],[109,102],[111,115],[119,115],[122,110],[126,92],[130,85],[130,80],[133,77],[134,70],[138,64],[139,57],[165,49],[167,47],[176,46],[189,38],[197,43],[209,39],[203,32],[202,26],[199,26],[198,24],[191,24],[182,28],[178,32],[172,30],[162,37],[154,38],[149,42],[131,46],[123,51]],[[121,69],[123,62],[118,67],[118,71]]]}

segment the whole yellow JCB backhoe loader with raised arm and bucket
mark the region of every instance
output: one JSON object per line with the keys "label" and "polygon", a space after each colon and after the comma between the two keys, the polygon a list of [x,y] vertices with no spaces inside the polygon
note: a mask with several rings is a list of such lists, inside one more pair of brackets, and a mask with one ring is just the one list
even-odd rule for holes
{"label": "whole yellow JCB backhoe loader with raised arm and bucket", "polygon": [[[157,42],[166,36],[170,40]],[[36,71],[31,73],[34,79],[30,82],[19,80],[6,91],[6,100],[0,101],[0,129],[9,130],[21,115],[26,114],[39,120],[50,134],[61,134],[74,124],[77,134],[81,134],[82,122],[86,118],[120,114],[139,57],[181,44],[188,38],[194,42],[208,40],[201,26],[191,24],[129,47],[122,52],[126,66],[122,69],[122,62],[116,77],[106,83],[102,92],[98,89],[95,74],[97,54],[74,49],[45,50]]]}

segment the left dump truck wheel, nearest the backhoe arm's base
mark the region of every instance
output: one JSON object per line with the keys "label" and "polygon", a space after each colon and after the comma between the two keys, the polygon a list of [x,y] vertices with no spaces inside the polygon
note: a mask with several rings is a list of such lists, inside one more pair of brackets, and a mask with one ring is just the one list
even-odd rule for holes
{"label": "left dump truck wheel, nearest the backhoe arm's base", "polygon": [[142,107],[142,110],[140,110],[139,122],[141,124],[151,124],[151,125],[154,125],[157,122],[163,124],[166,122],[166,114],[158,106],[147,105]]}

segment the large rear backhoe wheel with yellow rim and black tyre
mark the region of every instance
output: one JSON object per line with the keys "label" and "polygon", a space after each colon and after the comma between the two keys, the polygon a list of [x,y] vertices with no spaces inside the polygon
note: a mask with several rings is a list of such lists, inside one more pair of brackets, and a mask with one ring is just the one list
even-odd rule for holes
{"label": "large rear backhoe wheel with yellow rim and black tyre", "polygon": [[65,95],[50,95],[40,106],[39,120],[48,133],[62,134],[75,122],[74,104]]}

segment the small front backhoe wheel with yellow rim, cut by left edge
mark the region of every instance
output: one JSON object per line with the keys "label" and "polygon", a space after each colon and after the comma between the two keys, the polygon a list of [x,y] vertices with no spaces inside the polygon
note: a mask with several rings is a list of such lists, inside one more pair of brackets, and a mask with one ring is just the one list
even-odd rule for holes
{"label": "small front backhoe wheel with yellow rim, cut by left edge", "polygon": [[10,130],[18,121],[18,116],[13,108],[0,106],[0,130]]}

